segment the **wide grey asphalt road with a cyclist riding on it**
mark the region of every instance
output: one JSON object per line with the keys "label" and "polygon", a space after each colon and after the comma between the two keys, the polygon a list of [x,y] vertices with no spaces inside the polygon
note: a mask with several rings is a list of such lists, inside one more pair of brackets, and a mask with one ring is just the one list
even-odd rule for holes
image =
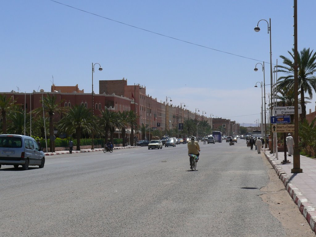
{"label": "wide grey asphalt road with a cyclist riding on it", "polygon": [[0,236],[285,236],[259,195],[267,167],[244,143],[46,156],[0,170]]}

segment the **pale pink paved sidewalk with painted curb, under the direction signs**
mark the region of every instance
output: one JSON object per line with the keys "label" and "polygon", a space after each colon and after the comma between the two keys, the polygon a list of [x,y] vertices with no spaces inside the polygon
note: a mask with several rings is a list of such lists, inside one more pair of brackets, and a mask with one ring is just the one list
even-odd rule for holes
{"label": "pale pink paved sidewalk with painted curb, under the direction signs", "polygon": [[267,149],[264,155],[316,234],[316,160],[301,155],[300,164],[303,173],[291,173],[293,156],[286,157],[291,163],[282,164],[284,152],[278,152],[278,160],[276,155],[270,154]]}

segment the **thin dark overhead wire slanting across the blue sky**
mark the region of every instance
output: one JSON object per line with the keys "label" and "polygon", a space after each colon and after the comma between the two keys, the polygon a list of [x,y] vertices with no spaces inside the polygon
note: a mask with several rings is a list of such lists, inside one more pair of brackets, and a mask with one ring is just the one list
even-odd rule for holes
{"label": "thin dark overhead wire slanting across the blue sky", "polygon": [[186,41],[186,40],[180,40],[180,39],[174,38],[172,36],[168,36],[168,35],[165,35],[165,34],[157,33],[157,32],[151,31],[151,30],[146,30],[146,29],[143,29],[143,28],[140,28],[140,27],[137,27],[137,26],[132,26],[132,25],[126,24],[124,22],[116,21],[116,20],[113,20],[111,18],[107,18],[105,16],[101,16],[101,15],[98,15],[98,14],[95,14],[95,13],[92,13],[92,12],[88,12],[88,11],[85,11],[85,10],[82,10],[82,9],[79,9],[79,8],[76,8],[76,7],[73,7],[73,6],[64,4],[64,3],[60,3],[60,2],[57,2],[57,1],[54,1],[54,0],[50,0],[50,1],[52,1],[54,3],[59,3],[59,4],[64,5],[66,7],[70,7],[70,8],[76,9],[78,11],[82,11],[82,12],[85,12],[85,13],[88,13],[88,14],[91,14],[91,15],[95,15],[95,16],[98,16],[98,17],[101,17],[101,18],[104,18],[104,19],[107,19],[107,20],[110,20],[110,21],[115,21],[117,23],[120,23],[120,24],[123,24],[123,25],[126,25],[126,26],[134,27],[136,29],[147,31],[149,33],[157,34],[157,35],[160,35],[160,36],[163,36],[163,37],[167,37],[167,38],[170,38],[170,39],[173,39],[173,40],[178,40],[178,41],[181,41],[181,42],[185,42],[185,43],[188,43],[188,44],[191,44],[191,45],[195,45],[195,46],[203,47],[203,48],[206,48],[206,49],[214,50],[214,51],[217,51],[217,52],[227,53],[227,54],[234,55],[234,56],[237,56],[237,57],[240,57],[240,58],[251,59],[251,60],[254,60],[254,61],[258,61],[258,62],[263,62],[264,61],[264,60],[254,59],[254,58],[248,58],[248,57],[245,57],[245,56],[241,56],[241,55],[230,53],[230,52],[225,52],[225,51],[218,50],[218,49],[213,49],[213,48],[210,48],[210,47],[207,47],[207,46],[204,46],[204,45],[195,44],[195,43],[192,43],[192,42],[189,42],[189,41]]}

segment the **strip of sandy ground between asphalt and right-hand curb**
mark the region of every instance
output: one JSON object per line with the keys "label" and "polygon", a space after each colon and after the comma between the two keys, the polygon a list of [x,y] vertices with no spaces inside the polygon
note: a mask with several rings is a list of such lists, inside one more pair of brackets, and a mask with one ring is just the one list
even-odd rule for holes
{"label": "strip of sandy ground between asphalt and right-hand curb", "polygon": [[266,187],[261,188],[261,191],[264,193],[261,195],[261,198],[264,202],[269,204],[272,215],[281,222],[289,237],[315,236],[307,220],[298,210],[297,205],[291,199],[289,193],[285,190],[285,186],[276,175],[271,164],[264,155],[261,155],[261,157],[264,160],[264,165],[270,168],[268,170],[270,181]]}

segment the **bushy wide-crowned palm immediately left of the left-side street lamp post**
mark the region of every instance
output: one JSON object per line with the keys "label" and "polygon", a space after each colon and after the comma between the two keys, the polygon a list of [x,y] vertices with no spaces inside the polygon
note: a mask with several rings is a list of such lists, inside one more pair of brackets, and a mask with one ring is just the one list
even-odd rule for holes
{"label": "bushy wide-crowned palm immediately left of the left-side street lamp post", "polygon": [[59,121],[58,130],[66,134],[76,134],[77,150],[80,150],[80,137],[83,132],[90,133],[94,120],[91,109],[84,105],[75,105]]}

